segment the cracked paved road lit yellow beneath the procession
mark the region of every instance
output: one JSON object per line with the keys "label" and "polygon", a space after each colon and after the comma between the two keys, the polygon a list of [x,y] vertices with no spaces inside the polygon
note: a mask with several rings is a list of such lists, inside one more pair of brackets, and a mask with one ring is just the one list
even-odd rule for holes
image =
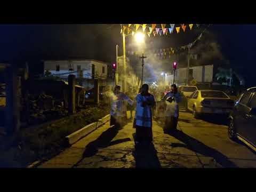
{"label": "cracked paved road lit yellow beneath the procession", "polygon": [[256,154],[230,141],[221,121],[194,119],[181,110],[178,130],[164,134],[161,123],[154,121],[154,145],[134,150],[132,122],[119,131],[107,123],[38,167],[256,167]]}

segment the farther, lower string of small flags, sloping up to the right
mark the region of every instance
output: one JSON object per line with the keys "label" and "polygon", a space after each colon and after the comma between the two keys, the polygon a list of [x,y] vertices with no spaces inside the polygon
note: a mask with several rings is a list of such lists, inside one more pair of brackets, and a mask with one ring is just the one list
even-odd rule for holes
{"label": "farther, lower string of small flags, sloping up to the right", "polygon": [[[171,56],[173,54],[183,54],[185,52],[185,50],[187,50],[188,48],[192,48],[193,46],[195,46],[195,44],[201,40],[205,30],[210,27],[212,24],[208,25],[203,31],[201,34],[198,35],[198,37],[195,39],[195,41],[193,41],[192,43],[189,43],[187,45],[183,45],[183,46],[180,46],[180,47],[167,47],[167,48],[164,48],[164,49],[156,49],[156,50],[153,50],[153,57],[157,58],[157,59],[168,59],[168,58],[171,58]],[[139,55],[138,52],[134,52],[134,51],[128,51],[128,54],[129,55]]]}

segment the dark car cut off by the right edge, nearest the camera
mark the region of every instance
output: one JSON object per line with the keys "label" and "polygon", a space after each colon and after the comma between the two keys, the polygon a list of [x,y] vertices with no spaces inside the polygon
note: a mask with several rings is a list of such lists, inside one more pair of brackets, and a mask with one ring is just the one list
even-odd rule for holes
{"label": "dark car cut off by the right edge, nearest the camera", "polygon": [[239,139],[256,151],[256,87],[240,95],[229,118],[229,138]]}

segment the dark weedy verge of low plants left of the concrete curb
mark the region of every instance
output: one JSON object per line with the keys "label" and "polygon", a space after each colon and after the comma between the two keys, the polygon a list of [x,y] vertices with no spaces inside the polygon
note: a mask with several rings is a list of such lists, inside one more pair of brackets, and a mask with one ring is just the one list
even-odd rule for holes
{"label": "dark weedy verge of low plants left of the concrete curb", "polygon": [[9,149],[0,150],[1,167],[26,167],[42,158],[60,153],[65,147],[65,137],[82,127],[98,121],[109,114],[107,105],[91,106],[80,113],[63,118],[50,125],[41,125],[34,130],[21,130]]}

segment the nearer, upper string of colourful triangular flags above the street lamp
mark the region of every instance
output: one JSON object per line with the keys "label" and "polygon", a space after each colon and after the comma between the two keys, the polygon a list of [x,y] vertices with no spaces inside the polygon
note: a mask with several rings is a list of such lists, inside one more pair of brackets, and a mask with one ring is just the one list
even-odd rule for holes
{"label": "nearer, upper string of colourful triangular flags above the street lamp", "polygon": [[[179,34],[181,29],[185,33],[186,29],[192,30],[194,24],[161,24],[161,27],[157,27],[159,24],[128,24],[128,26],[122,25],[121,24],[121,34],[135,34],[135,31],[139,30],[142,28],[143,33],[146,33],[149,37],[150,35],[168,35],[168,34],[173,34],[177,33]],[[200,24],[195,24],[197,27],[200,26]]]}

